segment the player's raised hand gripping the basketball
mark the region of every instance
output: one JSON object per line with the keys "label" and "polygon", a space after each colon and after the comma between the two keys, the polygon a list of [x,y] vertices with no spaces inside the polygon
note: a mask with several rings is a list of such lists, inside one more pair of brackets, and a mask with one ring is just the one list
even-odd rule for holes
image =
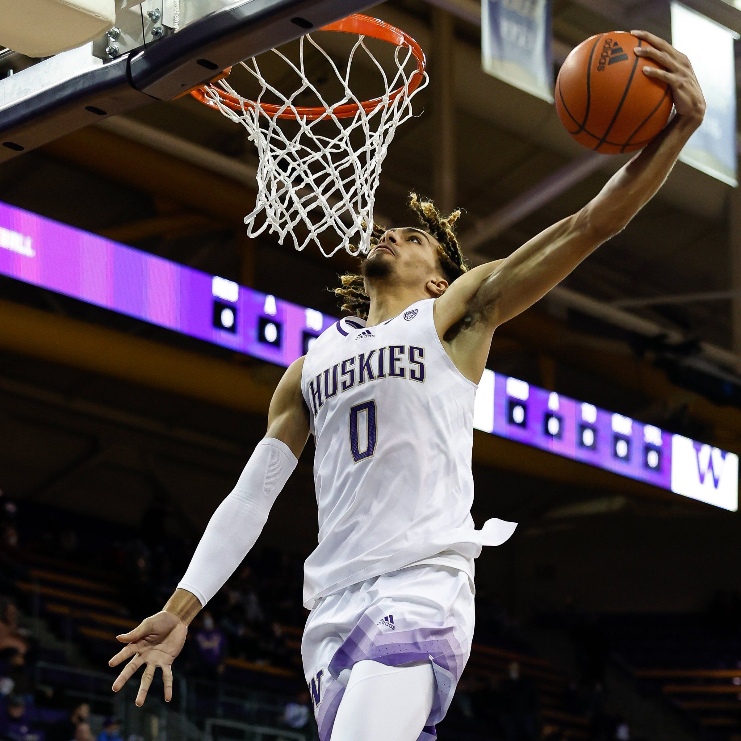
{"label": "player's raised hand gripping the basketball", "polygon": [[654,36],[653,33],[648,33],[648,31],[631,31],[631,33],[637,39],[650,44],[636,47],[636,56],[652,59],[664,67],[663,70],[643,67],[645,76],[666,82],[671,87],[674,107],[679,116],[694,119],[700,124],[705,116],[705,96],[702,95],[700,83],[697,82],[697,76],[687,56],[677,51],[668,41]]}

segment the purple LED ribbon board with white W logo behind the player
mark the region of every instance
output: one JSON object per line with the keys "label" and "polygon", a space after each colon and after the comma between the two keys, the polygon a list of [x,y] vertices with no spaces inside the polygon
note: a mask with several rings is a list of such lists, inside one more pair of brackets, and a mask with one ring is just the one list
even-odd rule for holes
{"label": "purple LED ribbon board with white W logo behind the player", "polygon": [[[0,274],[288,366],[336,319],[0,203]],[[479,430],[731,511],[734,453],[485,371]]]}

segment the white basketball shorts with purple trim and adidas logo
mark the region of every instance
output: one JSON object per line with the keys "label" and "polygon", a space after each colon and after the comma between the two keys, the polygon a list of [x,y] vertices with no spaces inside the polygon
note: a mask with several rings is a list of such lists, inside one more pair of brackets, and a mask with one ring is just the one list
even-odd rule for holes
{"label": "white basketball shorts with purple trim and adidas logo", "polygon": [[413,565],[327,597],[310,612],[301,653],[321,741],[330,741],[355,662],[432,664],[436,694],[419,741],[436,738],[471,654],[473,588],[464,571]]}

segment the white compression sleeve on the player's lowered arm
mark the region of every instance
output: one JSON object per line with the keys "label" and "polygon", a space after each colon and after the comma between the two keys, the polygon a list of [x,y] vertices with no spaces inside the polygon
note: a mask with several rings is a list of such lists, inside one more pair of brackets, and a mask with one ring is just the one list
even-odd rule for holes
{"label": "white compression sleeve on the player's lowered arm", "polygon": [[256,445],[233,491],[213,513],[178,585],[195,594],[202,607],[255,545],[296,463],[288,445],[274,437]]}

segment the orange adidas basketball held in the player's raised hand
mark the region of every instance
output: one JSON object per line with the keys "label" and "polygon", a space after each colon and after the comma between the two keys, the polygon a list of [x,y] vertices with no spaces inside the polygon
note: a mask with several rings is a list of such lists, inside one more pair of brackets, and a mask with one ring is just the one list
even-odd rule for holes
{"label": "orange adidas basketball held in the player's raised hand", "polygon": [[643,67],[658,67],[634,54],[645,41],[614,31],[579,44],[561,67],[556,110],[576,142],[602,154],[645,147],[666,126],[673,100],[665,82]]}

